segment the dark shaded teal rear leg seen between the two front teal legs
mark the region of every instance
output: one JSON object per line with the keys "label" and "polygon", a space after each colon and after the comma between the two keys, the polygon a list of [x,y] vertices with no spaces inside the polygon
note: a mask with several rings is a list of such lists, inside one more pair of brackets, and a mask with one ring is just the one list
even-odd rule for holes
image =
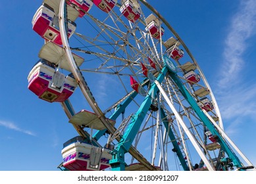
{"label": "dark shaded teal rear leg seen between the two front teal legs", "polygon": [[180,160],[180,164],[182,164],[183,170],[184,171],[189,171],[190,168],[188,168],[188,164],[187,164],[184,156],[182,155],[182,152],[181,152],[180,147],[179,147],[179,145],[176,141],[176,137],[175,137],[174,133],[172,132],[172,129],[170,129],[168,131],[169,122],[168,122],[167,116],[166,116],[165,111],[163,110],[163,108],[161,108],[161,119],[162,119],[162,122],[165,126],[166,132],[168,132],[168,136],[170,138],[170,141],[172,141],[173,148],[176,150],[176,154],[178,156],[178,159]]}

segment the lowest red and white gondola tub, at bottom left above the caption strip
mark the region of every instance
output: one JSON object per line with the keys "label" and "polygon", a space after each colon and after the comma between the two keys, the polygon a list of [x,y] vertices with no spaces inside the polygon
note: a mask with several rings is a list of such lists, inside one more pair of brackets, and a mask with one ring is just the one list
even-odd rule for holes
{"label": "lowest red and white gondola tub, at bottom left above the caption strip", "polygon": [[71,171],[99,171],[109,168],[111,150],[95,147],[83,137],[74,137],[63,145],[63,166]]}

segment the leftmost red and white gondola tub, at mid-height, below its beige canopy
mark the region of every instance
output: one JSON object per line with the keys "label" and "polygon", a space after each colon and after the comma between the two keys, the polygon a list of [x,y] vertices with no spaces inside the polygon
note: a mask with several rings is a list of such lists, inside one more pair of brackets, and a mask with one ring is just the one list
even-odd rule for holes
{"label": "leftmost red and white gondola tub, at mid-height, below its beige canopy", "polygon": [[55,70],[53,63],[40,59],[28,75],[28,89],[40,99],[53,102],[64,102],[77,87],[72,75],[64,76]]}

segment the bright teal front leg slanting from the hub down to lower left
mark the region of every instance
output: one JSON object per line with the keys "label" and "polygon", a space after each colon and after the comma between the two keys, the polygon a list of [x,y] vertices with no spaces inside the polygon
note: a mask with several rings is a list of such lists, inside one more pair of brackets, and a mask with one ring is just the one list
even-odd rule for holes
{"label": "bright teal front leg slanting from the hub down to lower left", "polygon": [[[157,81],[161,83],[164,80],[167,72],[168,69],[164,67],[161,71],[161,74],[159,74],[157,77]],[[156,97],[158,91],[159,89],[157,85],[153,83],[143,103],[141,103],[139,110],[136,112],[136,114],[134,114],[134,116],[132,116],[130,124],[122,136],[121,141],[118,143],[116,149],[114,150],[115,153],[113,155],[113,159],[109,162],[111,164],[112,170],[117,171],[124,169],[124,154],[130,149],[136,134],[140,130],[140,126],[145,118],[145,115],[147,114],[150,105],[153,103],[153,99]]]}

